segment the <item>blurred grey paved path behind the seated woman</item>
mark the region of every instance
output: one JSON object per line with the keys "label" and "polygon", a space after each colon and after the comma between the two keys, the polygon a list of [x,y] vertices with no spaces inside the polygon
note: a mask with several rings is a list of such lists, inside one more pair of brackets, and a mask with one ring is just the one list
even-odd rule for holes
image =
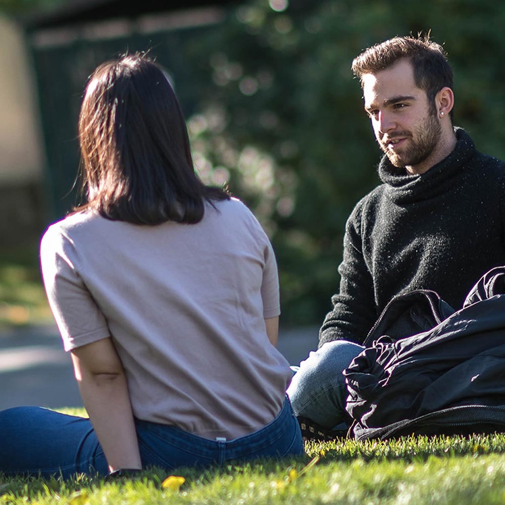
{"label": "blurred grey paved path behind the seated woman", "polygon": [[[317,327],[281,330],[279,350],[292,365],[317,347]],[[0,410],[20,405],[79,407],[70,357],[53,325],[0,333]]]}

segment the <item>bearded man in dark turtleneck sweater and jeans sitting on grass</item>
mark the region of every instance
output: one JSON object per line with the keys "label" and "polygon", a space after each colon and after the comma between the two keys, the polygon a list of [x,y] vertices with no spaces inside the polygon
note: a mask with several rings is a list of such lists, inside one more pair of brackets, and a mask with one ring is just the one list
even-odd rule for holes
{"label": "bearded man in dark turtleneck sweater and jeans sitting on grass", "polygon": [[342,371],[391,298],[430,289],[459,308],[479,277],[505,261],[505,163],[453,126],[442,47],[394,37],[358,56],[352,71],[384,151],[382,184],[347,221],[333,310],[287,391],[298,417],[327,429],[346,427]]}

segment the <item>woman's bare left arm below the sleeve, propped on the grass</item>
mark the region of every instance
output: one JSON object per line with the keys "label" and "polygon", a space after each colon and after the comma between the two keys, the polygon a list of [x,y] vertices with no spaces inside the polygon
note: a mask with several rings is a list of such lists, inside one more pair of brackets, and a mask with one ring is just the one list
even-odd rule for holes
{"label": "woman's bare left arm below the sleeve, propped on the grass", "polygon": [[82,401],[109,470],[141,469],[126,377],[112,339],[77,347],[71,354]]}

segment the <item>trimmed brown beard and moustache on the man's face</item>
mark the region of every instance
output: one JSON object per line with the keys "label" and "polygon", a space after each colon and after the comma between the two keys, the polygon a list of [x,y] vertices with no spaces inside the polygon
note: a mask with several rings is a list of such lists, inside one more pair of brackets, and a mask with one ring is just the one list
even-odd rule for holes
{"label": "trimmed brown beard and moustache on the man's face", "polygon": [[[401,153],[388,149],[382,141],[379,141],[380,148],[384,151],[389,161],[395,167],[412,167],[424,162],[433,153],[433,150],[440,141],[442,127],[437,120],[437,116],[430,114],[425,122],[418,126],[414,132],[396,132],[395,137],[408,137],[410,145]],[[414,136],[416,140],[414,140]]]}

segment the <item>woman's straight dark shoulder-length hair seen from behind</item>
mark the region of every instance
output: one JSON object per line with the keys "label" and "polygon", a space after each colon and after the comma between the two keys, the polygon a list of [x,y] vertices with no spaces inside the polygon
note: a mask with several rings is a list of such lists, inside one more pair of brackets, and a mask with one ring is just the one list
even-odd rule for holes
{"label": "woman's straight dark shoulder-length hair seen from behind", "polygon": [[75,210],[135,224],[197,223],[204,200],[230,197],[196,175],[175,92],[145,55],[103,63],[91,74],[79,142],[87,202]]}

